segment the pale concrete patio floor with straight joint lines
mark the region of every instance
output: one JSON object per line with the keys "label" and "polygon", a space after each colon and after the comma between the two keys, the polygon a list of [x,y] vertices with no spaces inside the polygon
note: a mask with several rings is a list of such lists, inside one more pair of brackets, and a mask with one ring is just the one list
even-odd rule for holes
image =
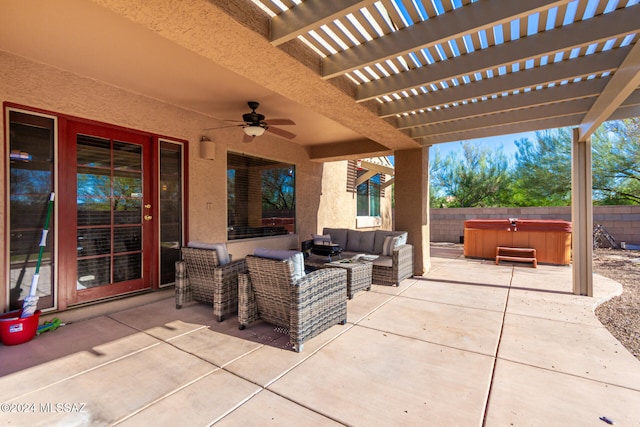
{"label": "pale concrete patio floor with straight joint lines", "polygon": [[59,313],[0,346],[0,425],[640,426],[640,361],[593,313],[619,284],[579,297],[569,267],[432,257],[302,353],[171,290]]}

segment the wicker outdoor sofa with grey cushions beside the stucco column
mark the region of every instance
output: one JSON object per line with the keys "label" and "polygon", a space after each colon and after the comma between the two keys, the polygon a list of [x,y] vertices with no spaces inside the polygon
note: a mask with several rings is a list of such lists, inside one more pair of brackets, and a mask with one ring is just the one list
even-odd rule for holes
{"label": "wicker outdoor sofa with grey cushions beside the stucco column", "polygon": [[413,246],[407,243],[406,231],[359,231],[348,228],[328,228],[314,240],[329,239],[342,248],[342,258],[365,254],[375,255],[372,282],[379,285],[398,286],[413,275]]}

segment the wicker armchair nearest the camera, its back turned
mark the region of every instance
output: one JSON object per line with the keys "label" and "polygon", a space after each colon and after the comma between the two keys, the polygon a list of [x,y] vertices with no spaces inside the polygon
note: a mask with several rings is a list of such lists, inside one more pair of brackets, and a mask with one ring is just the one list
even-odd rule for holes
{"label": "wicker armchair nearest the camera, its back turned", "polygon": [[249,255],[248,274],[238,276],[240,329],[258,319],[289,330],[303,344],[333,325],[347,322],[347,272],[323,268],[293,280],[293,264]]}

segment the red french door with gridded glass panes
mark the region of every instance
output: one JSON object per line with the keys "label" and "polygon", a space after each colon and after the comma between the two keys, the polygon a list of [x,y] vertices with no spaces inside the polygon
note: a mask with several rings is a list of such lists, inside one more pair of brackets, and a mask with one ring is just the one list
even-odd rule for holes
{"label": "red french door with gridded glass panes", "polygon": [[151,138],[72,121],[65,133],[59,240],[67,304],[149,288]]}

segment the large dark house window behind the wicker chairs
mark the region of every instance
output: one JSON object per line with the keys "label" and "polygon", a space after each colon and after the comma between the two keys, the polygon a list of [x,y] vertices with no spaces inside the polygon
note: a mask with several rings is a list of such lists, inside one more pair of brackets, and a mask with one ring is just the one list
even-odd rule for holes
{"label": "large dark house window behind the wicker chairs", "polygon": [[227,154],[227,238],[295,232],[295,166]]}

